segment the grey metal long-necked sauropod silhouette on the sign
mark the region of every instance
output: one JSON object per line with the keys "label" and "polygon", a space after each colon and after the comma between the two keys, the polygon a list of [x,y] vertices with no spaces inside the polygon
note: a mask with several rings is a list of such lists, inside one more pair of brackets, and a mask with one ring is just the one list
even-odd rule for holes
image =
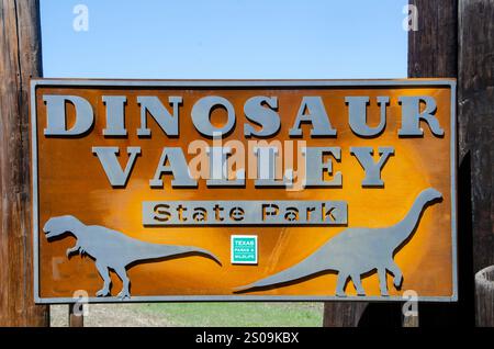
{"label": "grey metal long-necked sauropod silhouette on the sign", "polygon": [[412,238],[425,207],[442,198],[437,190],[429,188],[418,194],[412,209],[397,224],[384,228],[347,228],[327,240],[316,251],[297,264],[271,277],[261,279],[236,292],[271,286],[315,273],[334,270],[338,272],[336,295],[345,296],[345,285],[350,278],[358,295],[366,295],[361,275],[378,271],[381,295],[388,295],[386,271],[394,275],[396,289],[403,282],[403,273],[393,260],[394,254]]}

